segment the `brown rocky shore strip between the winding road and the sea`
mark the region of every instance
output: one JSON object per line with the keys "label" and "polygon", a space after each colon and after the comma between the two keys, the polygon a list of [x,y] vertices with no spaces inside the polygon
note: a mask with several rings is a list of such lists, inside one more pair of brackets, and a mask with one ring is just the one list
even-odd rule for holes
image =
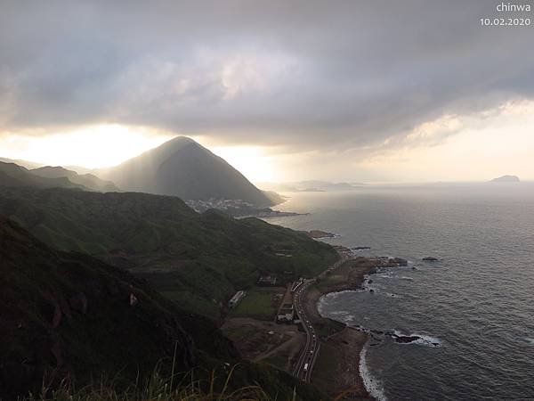
{"label": "brown rocky shore strip between the winding road and the sea", "polygon": [[[345,323],[322,317],[318,308],[320,299],[331,293],[360,290],[365,276],[372,274],[379,266],[380,262],[376,259],[348,259],[307,292],[306,312],[322,333],[321,352],[317,362],[319,368],[314,370],[312,382],[331,397],[376,399],[368,393],[360,372],[361,355],[368,342],[368,334]],[[354,357],[356,355],[358,357]]]}

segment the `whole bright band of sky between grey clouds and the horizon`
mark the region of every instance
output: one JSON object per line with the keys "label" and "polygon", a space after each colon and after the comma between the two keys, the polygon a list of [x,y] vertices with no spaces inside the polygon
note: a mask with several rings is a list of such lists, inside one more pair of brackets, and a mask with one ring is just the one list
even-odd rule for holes
{"label": "whole bright band of sky between grey clouds and the horizon", "polygon": [[[216,133],[192,139],[228,161],[255,184],[304,179],[486,181],[506,174],[534,180],[531,127],[534,101],[523,100],[470,115],[443,115],[364,151],[299,150],[254,144],[224,146]],[[56,166],[104,168],[131,159],[174,136],[150,127],[119,125],[82,127],[51,135],[4,133],[0,135],[0,157]]]}

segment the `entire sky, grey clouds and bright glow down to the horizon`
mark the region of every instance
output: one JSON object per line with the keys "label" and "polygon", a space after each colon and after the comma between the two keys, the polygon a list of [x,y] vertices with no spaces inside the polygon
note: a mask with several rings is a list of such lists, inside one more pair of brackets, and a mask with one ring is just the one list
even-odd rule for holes
{"label": "entire sky, grey clouds and bright glow down to the horizon", "polygon": [[253,182],[534,180],[534,26],[480,21],[534,12],[500,3],[4,0],[0,157],[187,135]]}

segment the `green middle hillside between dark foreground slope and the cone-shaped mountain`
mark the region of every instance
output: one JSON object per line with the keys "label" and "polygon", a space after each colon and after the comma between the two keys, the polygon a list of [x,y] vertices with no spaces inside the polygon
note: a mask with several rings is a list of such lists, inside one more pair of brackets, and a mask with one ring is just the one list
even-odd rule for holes
{"label": "green middle hillside between dark foreground slope and the cone-shaped mountain", "polygon": [[262,220],[199,215],[175,197],[3,188],[0,213],[60,250],[76,250],[147,278],[182,307],[217,317],[259,274],[318,274],[337,254]]}

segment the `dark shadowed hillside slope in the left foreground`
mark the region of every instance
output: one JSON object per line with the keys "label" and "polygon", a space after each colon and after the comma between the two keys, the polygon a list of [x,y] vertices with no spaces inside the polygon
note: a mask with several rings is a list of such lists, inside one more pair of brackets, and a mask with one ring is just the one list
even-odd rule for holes
{"label": "dark shadowed hillside slope in the left foreground", "polygon": [[195,368],[200,387],[208,381],[215,391],[236,366],[229,390],[259,385],[272,398],[291,399],[294,390],[297,399],[320,397],[287,373],[240,362],[214,323],[182,311],[134,275],[52,250],[4,217],[0,261],[0,399],[66,378],[78,389],[101,378],[120,391],[150,389],[143,386],[157,364],[160,378]]}

